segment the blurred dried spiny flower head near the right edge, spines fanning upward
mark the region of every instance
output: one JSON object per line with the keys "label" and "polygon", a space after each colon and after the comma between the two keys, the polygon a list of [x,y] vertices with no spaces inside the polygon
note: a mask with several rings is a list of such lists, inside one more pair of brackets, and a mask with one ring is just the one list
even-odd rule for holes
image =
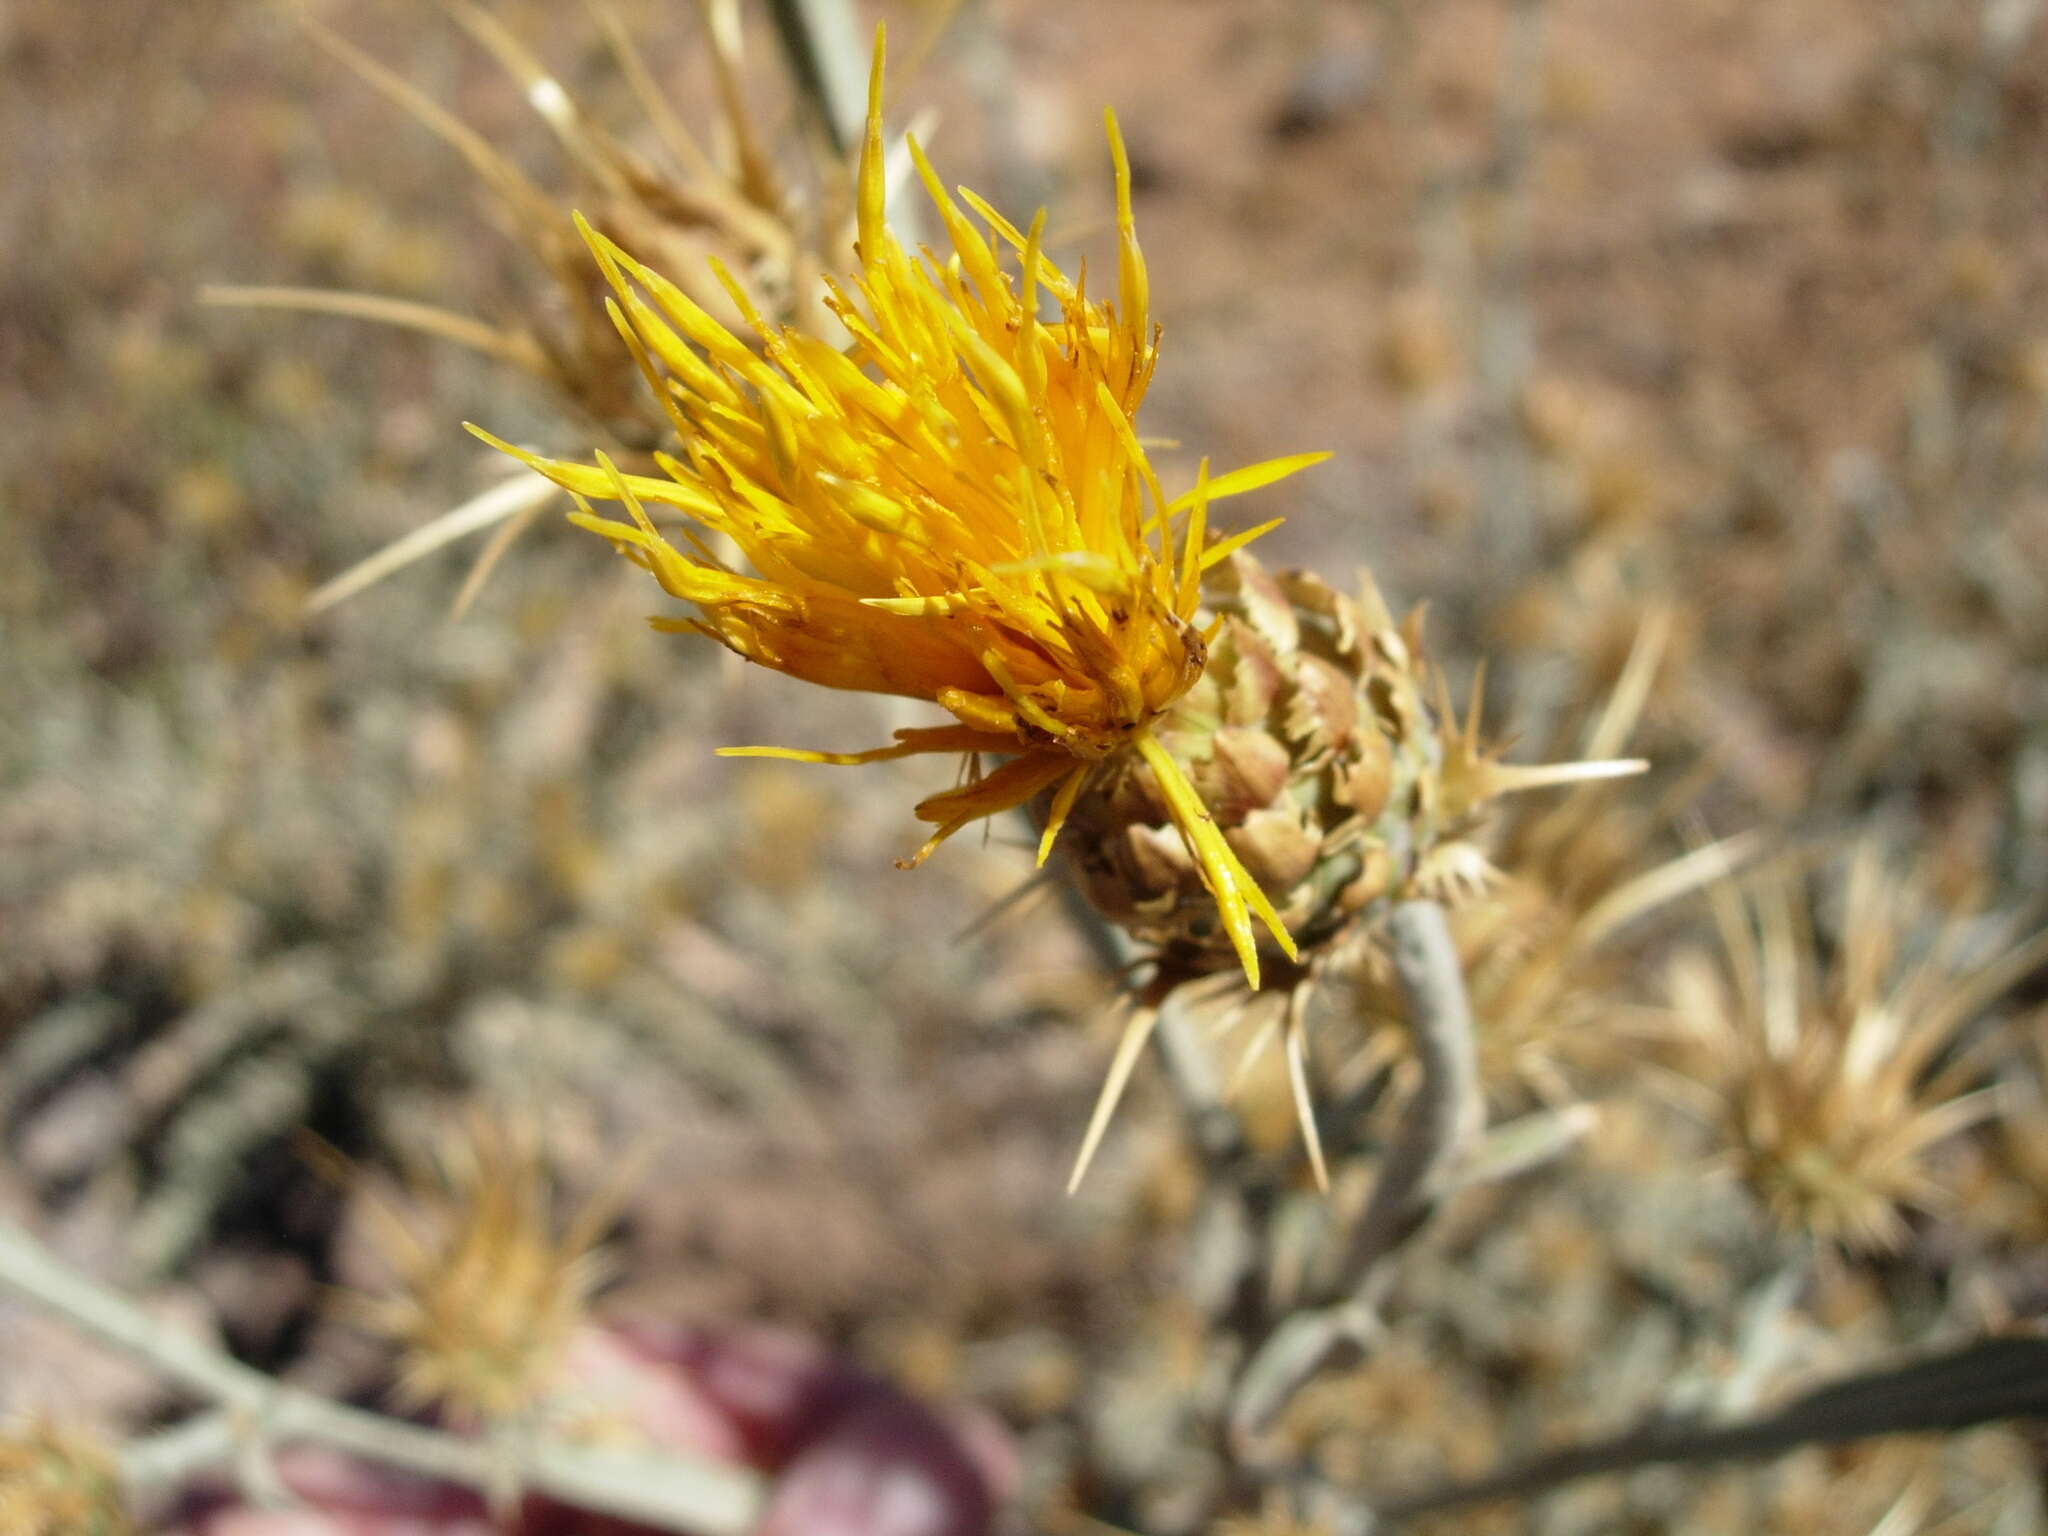
{"label": "blurred dried spiny flower head near the right edge, spines fanning upward", "polygon": [[1933,924],[1921,883],[1870,842],[1831,952],[1786,866],[1710,895],[1722,965],[1679,956],[1671,993],[1743,1178],[1788,1233],[1898,1247],[1905,1212],[1944,1202],[1929,1151],[1995,1110],[1960,1034],[2048,961],[2048,932]]}

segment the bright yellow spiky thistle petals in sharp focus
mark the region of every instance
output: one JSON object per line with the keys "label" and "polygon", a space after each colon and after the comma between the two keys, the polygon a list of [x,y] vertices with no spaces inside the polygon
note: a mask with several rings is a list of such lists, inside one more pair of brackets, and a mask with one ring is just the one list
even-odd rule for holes
{"label": "bright yellow spiky thistle petals in sharp focus", "polygon": [[[905,866],[961,827],[1051,793],[1044,862],[1098,768],[1141,758],[1257,985],[1251,918],[1290,956],[1294,942],[1153,723],[1202,674],[1202,571],[1272,526],[1210,543],[1208,504],[1327,455],[1219,479],[1204,465],[1192,492],[1167,500],[1135,430],[1157,330],[1114,115],[1118,297],[1108,303],[1087,297],[1085,274],[1069,281],[1047,260],[1042,213],[1020,231],[963,188],[991,246],[915,141],[952,250],[944,262],[907,252],[883,215],[881,88],[877,35],[856,197],[860,272],[829,285],[827,301],[850,350],[768,328],[731,285],[756,352],[584,225],[614,291],[612,322],[682,457],[655,455],[662,477],[631,475],[602,455],[596,465],[547,461],[479,436],[575,496],[575,522],[698,610],[659,627],[709,635],[807,682],[928,698],[952,715],[952,725],[897,731],[895,745],[872,752],[729,750],[829,764],[967,754],[973,778],[918,805],[936,831]],[[999,246],[1016,252],[1016,279],[1001,270]],[[1059,305],[1059,319],[1038,317],[1040,297]],[[600,518],[590,498],[623,502],[631,522]],[[731,541],[752,573],[694,528],[672,543],[647,506]],[[1004,762],[979,770],[981,758]]]}

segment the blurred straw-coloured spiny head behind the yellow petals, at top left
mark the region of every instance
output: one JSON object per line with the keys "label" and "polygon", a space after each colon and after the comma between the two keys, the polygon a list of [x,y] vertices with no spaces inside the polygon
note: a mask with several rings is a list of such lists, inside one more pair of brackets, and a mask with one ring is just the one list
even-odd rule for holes
{"label": "blurred straw-coloured spiny head behind the yellow petals, at top left", "polygon": [[[770,141],[766,113],[745,78],[739,0],[694,0],[692,6],[713,76],[709,135],[692,129],[676,109],[678,92],[657,76],[610,0],[584,0],[584,18],[602,37],[645,117],[635,139],[600,123],[528,39],[487,8],[473,0],[434,2],[520,86],[561,147],[567,186],[557,190],[528,174],[403,74],[309,10],[291,10],[307,37],[465,162],[489,195],[496,223],[530,258],[535,283],[496,317],[340,289],[213,285],[203,299],[369,319],[467,346],[539,381],[635,465],[645,463],[668,422],[618,350],[604,309],[606,287],[569,221],[571,209],[594,229],[674,272],[692,301],[723,322],[766,313],[817,330],[829,326],[819,272],[840,266],[850,244],[848,178],[829,131],[819,135],[813,156],[778,152]],[[498,535],[457,598],[461,608],[547,500],[545,487],[524,477],[492,487],[334,578],[311,596],[311,606],[332,606],[455,539],[496,526]]]}

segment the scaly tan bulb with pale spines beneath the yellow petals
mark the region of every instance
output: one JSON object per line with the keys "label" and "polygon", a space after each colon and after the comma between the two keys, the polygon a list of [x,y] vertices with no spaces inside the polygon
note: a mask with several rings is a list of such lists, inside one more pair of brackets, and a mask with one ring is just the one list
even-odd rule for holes
{"label": "scaly tan bulb with pale spines beneath the yellow petals", "polygon": [[1499,762],[1483,741],[1477,688],[1460,719],[1423,655],[1421,616],[1395,623],[1370,578],[1350,598],[1307,571],[1276,573],[1233,553],[1208,571],[1204,596],[1208,666],[1153,735],[1298,938],[1298,954],[1266,956],[1278,985],[1247,993],[1231,971],[1233,936],[1208,899],[1208,874],[1180,831],[1176,786],[1151,758],[1096,772],[1071,807],[1073,856],[1096,907],[1153,948],[1157,975],[1130,1016],[1081,1163],[1157,1004],[1180,993],[1178,1004],[1247,1038],[1243,1065],[1282,1044],[1321,1182],[1307,1020],[1325,981],[1356,983],[1372,969],[1372,915],[1386,899],[1456,909],[1491,889],[1497,872],[1481,840],[1501,795],[1642,764]]}

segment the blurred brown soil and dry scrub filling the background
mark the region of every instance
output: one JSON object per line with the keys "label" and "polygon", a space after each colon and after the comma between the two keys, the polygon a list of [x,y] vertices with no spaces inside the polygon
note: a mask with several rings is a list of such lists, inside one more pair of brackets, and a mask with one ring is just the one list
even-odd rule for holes
{"label": "blurred brown soil and dry scrub filling the background", "polygon": [[[575,203],[532,92],[449,12],[313,10]],[[590,119],[647,137],[598,12],[485,10]],[[700,8],[612,12],[727,154]],[[737,14],[760,145],[823,188],[821,221],[819,135],[764,14]],[[1655,772],[1604,791],[1614,815],[1552,850],[1559,879],[1757,829],[1812,852],[1823,963],[1843,946],[1829,860],[1855,840],[1911,870],[1907,934],[2038,913],[2036,0],[879,16],[891,119],[928,115],[942,174],[1012,217],[1047,205],[1049,244],[1092,272],[1114,260],[1116,106],[1163,326],[1145,430],[1182,444],[1161,471],[1333,451],[1227,526],[1286,516],[1268,563],[1337,586],[1368,565],[1395,610],[1427,604],[1460,696],[1487,662],[1511,756],[1579,731],[1647,621],[1669,637],[1632,741]],[[1112,979],[1047,891],[1006,903],[1022,825],[899,874],[944,768],[713,756],[858,750],[920,711],[651,633],[657,594],[555,518],[461,618],[479,539],[307,614],[500,477],[461,422],[584,455],[590,401],[442,336],[201,289],[559,319],[504,199],[252,0],[0,4],[0,1214],[264,1370],[375,1395],[389,1348],[326,1296],[375,1284],[379,1255],[305,1133],[381,1188],[483,1106],[539,1126],[567,1192],[645,1149],[606,1307],[782,1323],[981,1405],[1018,1446],[1030,1528],[1231,1513],[1178,1407],[1210,1358],[1186,1286],[1200,1159],[1147,1067],[1063,1196]],[[1665,1079],[1710,1073],[1665,975],[1712,930],[1698,897],[1653,930],[1604,961],[1569,1042],[1548,1016],[1513,1042],[1544,1059],[1534,1090],[1522,1057],[1499,1079],[1597,1104],[1593,1133],[1452,1212],[1384,1348],[1296,1403],[1294,1464],[1413,1487],[1626,1423],[1673,1382],[1755,1368],[1763,1391],[2048,1313],[2038,975],[1974,1059],[1997,1112],[1915,1151],[1905,1237],[1815,1257],[1731,1165],[1726,1116],[1671,1112]],[[1356,1067],[1358,1038],[1323,1049],[1339,1081],[1397,1069]],[[1268,1075],[1247,1137],[1300,1192]],[[1757,1346],[1743,1319],[1763,1327],[1788,1266]],[[0,1358],[0,1409],[121,1436],[170,1401],[8,1305]],[[2040,1475],[1985,1430],[1438,1528],[2019,1536]]]}

